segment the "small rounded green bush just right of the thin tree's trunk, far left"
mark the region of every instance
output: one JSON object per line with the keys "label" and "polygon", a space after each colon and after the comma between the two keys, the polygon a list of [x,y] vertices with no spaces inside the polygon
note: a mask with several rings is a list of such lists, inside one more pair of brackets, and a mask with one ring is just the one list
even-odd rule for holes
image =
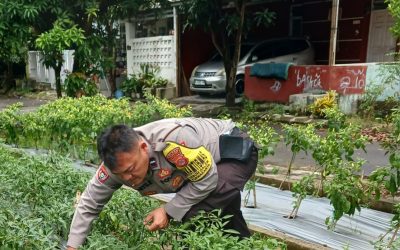
{"label": "small rounded green bush just right of the thin tree's trunk, far left", "polygon": [[94,96],[98,93],[96,84],[83,73],[75,72],[67,76],[64,82],[65,93],[69,97]]}

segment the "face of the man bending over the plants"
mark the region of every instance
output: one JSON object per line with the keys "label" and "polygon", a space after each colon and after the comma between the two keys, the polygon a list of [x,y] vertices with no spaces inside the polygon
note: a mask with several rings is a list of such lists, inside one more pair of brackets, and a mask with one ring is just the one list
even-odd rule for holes
{"label": "face of the man bending over the plants", "polygon": [[116,154],[117,167],[113,173],[132,187],[137,187],[144,181],[149,168],[149,154],[147,144],[140,141],[130,152]]}

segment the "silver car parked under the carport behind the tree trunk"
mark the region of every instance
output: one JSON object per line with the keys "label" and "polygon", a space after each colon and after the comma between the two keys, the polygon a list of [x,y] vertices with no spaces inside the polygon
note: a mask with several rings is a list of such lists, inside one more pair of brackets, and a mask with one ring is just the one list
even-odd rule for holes
{"label": "silver car parked under the carport behind the tree trunk", "polygon": [[[244,69],[255,63],[314,64],[314,49],[305,38],[279,38],[241,47],[236,73],[236,93],[244,93]],[[222,57],[217,53],[206,63],[194,68],[190,90],[198,94],[225,93],[226,75]]]}

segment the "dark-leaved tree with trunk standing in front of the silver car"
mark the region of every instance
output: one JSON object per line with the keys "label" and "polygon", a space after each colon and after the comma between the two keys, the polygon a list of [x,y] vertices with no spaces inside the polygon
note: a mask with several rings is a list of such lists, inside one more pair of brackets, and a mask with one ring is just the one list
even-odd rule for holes
{"label": "dark-leaved tree with trunk standing in front of the silver car", "polygon": [[[242,37],[254,25],[270,25],[275,13],[268,9],[252,16],[246,13],[250,0],[186,0],[181,9],[187,27],[200,27],[211,33],[212,42],[224,61],[226,105],[235,105],[235,79]],[[234,47],[231,51],[231,46]]]}

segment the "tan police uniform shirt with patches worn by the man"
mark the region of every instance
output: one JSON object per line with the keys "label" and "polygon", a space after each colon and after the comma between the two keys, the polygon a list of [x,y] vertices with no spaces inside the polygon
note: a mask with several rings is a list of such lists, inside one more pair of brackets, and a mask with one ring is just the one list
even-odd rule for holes
{"label": "tan police uniform shirt with patches worn by the man", "polygon": [[[131,188],[143,195],[176,193],[164,209],[180,221],[193,205],[215,189],[219,136],[230,133],[234,126],[231,120],[180,118],[135,128],[149,146],[149,170],[143,183]],[[92,221],[122,185],[130,186],[106,166],[100,166],[76,208],[68,246],[83,244]]]}

